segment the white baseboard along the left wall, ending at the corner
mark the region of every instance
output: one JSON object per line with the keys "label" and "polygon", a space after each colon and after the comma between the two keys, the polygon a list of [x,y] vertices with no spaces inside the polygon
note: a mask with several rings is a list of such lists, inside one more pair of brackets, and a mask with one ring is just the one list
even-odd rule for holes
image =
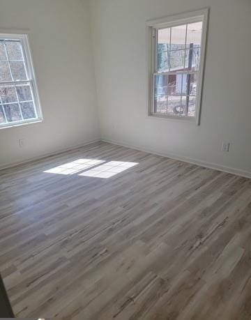
{"label": "white baseboard along the left wall, ending at the corner", "polygon": [[59,150],[57,150],[55,152],[51,152],[51,153],[45,153],[45,154],[40,155],[40,156],[35,157],[35,158],[29,158],[29,159],[26,159],[24,161],[19,161],[19,162],[6,163],[6,164],[0,166],[0,170],[12,168],[12,167],[17,167],[17,165],[24,165],[27,162],[31,162],[31,161],[36,161],[36,160],[40,160],[40,159],[43,159],[43,158],[47,158],[47,157],[50,157],[51,155],[58,155],[60,153],[66,152],[66,151],[71,151],[71,150],[74,150],[74,149],[77,149],[77,148],[81,148],[82,146],[88,146],[89,144],[94,144],[94,143],[100,142],[100,141],[101,141],[100,138],[91,139],[91,140],[87,140],[86,142],[83,142],[82,144],[77,144],[77,145],[74,145],[74,146],[70,146],[69,148],[59,149]]}

